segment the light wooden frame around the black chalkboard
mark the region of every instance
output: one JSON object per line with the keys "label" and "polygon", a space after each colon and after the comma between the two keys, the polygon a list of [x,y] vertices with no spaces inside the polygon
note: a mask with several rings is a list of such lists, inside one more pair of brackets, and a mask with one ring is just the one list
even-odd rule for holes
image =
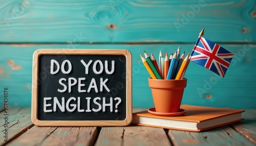
{"label": "light wooden frame around the black chalkboard", "polygon": [[[124,120],[39,120],[38,119],[38,63],[40,55],[123,55],[126,57],[126,118]],[[127,126],[132,121],[132,55],[115,49],[39,49],[33,54],[31,120],[36,126]]]}

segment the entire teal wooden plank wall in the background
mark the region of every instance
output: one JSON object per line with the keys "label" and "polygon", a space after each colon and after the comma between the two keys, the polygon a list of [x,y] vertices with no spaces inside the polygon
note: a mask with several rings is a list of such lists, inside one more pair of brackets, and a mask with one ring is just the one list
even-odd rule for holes
{"label": "entire teal wooden plank wall in the background", "polygon": [[[183,104],[256,108],[255,1],[0,1],[0,95],[31,106],[38,48],[123,48],[133,55],[133,106],[153,107],[145,50],[190,53],[198,33],[234,53],[225,78],[191,62]],[[3,98],[0,100],[3,105]]]}

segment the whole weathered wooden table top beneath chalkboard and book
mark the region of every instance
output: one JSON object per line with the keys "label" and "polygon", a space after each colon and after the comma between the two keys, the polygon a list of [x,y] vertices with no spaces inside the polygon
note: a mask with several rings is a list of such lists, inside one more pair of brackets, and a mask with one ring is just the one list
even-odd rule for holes
{"label": "whole weathered wooden table top beneath chalkboard and book", "polygon": [[[134,109],[138,111],[138,109]],[[205,132],[186,132],[130,125],[127,127],[37,127],[30,107],[1,112],[1,145],[256,145],[256,109],[245,109],[238,123]]]}

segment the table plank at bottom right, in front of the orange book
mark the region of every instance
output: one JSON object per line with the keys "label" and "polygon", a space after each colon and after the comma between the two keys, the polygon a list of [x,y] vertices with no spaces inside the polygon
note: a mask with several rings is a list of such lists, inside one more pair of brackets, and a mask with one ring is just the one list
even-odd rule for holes
{"label": "table plank at bottom right, in front of the orange book", "polygon": [[169,130],[174,145],[254,145],[229,126],[205,132]]}

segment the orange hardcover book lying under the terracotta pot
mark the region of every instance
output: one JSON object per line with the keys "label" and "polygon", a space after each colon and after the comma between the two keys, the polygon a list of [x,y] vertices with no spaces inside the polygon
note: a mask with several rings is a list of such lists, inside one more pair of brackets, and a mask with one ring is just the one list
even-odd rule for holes
{"label": "orange hardcover book lying under the terracotta pot", "polygon": [[159,116],[147,111],[133,113],[132,124],[165,129],[200,132],[237,121],[244,110],[181,105],[186,113],[181,116]]}

